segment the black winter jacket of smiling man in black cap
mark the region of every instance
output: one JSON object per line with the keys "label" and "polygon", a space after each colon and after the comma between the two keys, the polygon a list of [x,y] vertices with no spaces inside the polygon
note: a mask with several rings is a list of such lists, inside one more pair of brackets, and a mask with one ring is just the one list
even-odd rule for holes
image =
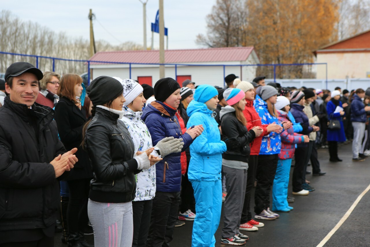
{"label": "black winter jacket of smiling man in black cap", "polygon": [[9,96],[0,108],[0,232],[45,229],[57,220],[59,183],[49,162],[65,149],[54,111],[31,108]]}

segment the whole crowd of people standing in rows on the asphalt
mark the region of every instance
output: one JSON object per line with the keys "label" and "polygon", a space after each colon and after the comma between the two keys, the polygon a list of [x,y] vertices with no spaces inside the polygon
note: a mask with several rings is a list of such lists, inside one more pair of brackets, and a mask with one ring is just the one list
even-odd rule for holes
{"label": "whole crowd of people standing in rows on the asphalt", "polygon": [[326,174],[318,148],[340,162],[338,145],[352,141],[353,161],[370,156],[369,89],[225,82],[163,78],[152,88],[99,76],[85,88],[75,74],[10,65],[0,82],[0,247],[53,246],[58,228],[63,243],[88,247],[89,226],[95,246],[169,246],[184,221],[194,221],[193,247],[215,246],[220,220],[219,241],[242,245],[259,221],[293,210],[293,159],[292,194],[308,195],[307,166]]}

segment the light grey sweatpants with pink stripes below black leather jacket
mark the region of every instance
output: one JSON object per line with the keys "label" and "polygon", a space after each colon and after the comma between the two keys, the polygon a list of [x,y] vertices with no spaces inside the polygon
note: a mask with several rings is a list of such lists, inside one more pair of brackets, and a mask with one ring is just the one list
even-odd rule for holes
{"label": "light grey sweatpants with pink stripes below black leather jacket", "polygon": [[106,203],[89,199],[89,219],[97,247],[131,247],[134,232],[132,203]]}

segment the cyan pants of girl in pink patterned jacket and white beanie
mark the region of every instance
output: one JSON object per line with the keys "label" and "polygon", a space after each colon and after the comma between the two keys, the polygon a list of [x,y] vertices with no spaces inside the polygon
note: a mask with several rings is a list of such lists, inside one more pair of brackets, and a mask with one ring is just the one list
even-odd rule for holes
{"label": "cyan pants of girl in pink patterned jacket and white beanie", "polygon": [[288,206],[289,173],[292,159],[279,159],[272,186],[272,210],[283,210]]}

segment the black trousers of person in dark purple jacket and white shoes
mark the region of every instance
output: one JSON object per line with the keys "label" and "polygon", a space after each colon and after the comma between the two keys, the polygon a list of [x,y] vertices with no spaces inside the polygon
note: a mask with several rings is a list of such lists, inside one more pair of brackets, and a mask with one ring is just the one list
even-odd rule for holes
{"label": "black trousers of person in dark purple jacket and white shoes", "polygon": [[308,147],[297,147],[295,152],[295,164],[292,176],[293,192],[299,192],[302,190],[302,174],[305,171],[305,162],[308,156]]}

